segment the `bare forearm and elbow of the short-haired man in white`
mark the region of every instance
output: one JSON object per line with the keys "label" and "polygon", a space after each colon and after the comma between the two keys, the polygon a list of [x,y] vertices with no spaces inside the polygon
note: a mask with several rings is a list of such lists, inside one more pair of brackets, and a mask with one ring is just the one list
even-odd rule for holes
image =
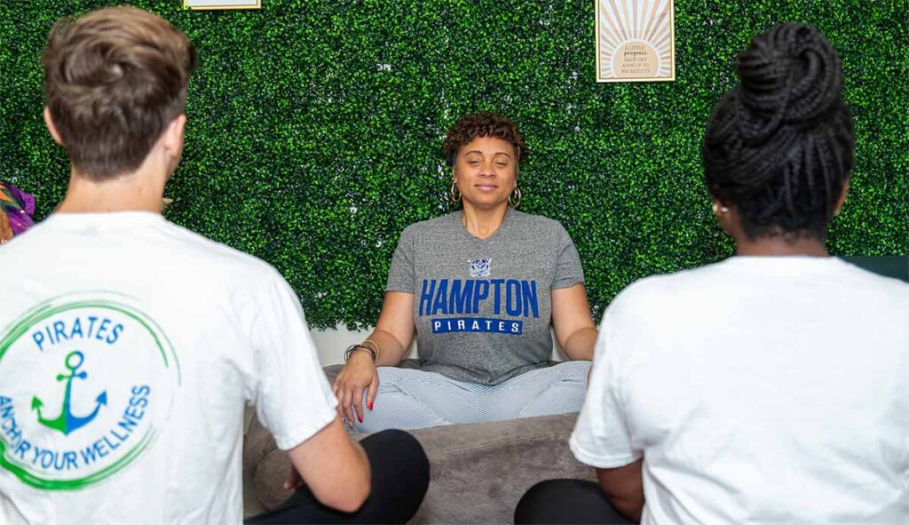
{"label": "bare forearm and elbow of the short-haired man in white", "polygon": [[369,497],[369,459],[347,435],[340,418],[287,453],[315,499],[324,505],[354,512]]}

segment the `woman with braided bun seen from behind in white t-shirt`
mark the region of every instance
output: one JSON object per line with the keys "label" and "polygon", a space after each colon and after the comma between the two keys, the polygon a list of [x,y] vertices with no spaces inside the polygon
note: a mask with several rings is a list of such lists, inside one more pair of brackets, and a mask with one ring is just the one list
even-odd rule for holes
{"label": "woman with braided bun seen from behind in white t-shirt", "polygon": [[645,278],[604,315],[570,439],[589,481],[517,523],[904,523],[909,285],[824,249],[854,131],[834,48],[777,25],[707,123],[724,262]]}

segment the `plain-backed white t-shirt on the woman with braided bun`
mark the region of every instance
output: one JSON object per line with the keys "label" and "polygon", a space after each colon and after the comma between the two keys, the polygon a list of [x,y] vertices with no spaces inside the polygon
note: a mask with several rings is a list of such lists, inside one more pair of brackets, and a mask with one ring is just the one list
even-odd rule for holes
{"label": "plain-backed white t-shirt on the woman with braided bun", "polygon": [[644,457],[644,523],[905,523],[909,285],[827,257],[733,257],[607,310],[570,439]]}

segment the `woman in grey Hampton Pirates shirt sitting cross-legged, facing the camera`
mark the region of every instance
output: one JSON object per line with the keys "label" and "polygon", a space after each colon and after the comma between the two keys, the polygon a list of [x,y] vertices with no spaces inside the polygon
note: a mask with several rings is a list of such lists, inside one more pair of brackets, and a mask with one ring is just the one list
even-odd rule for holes
{"label": "woman in grey Hampton Pirates shirt sitting cross-legged, facing the camera", "polygon": [[[514,209],[524,138],[504,116],[468,115],[445,157],[463,209],[405,228],[375,331],[335,379],[359,431],[575,412],[584,400],[596,340],[584,273],[564,227]],[[581,360],[551,366],[550,327]],[[421,369],[394,368],[415,331]]]}

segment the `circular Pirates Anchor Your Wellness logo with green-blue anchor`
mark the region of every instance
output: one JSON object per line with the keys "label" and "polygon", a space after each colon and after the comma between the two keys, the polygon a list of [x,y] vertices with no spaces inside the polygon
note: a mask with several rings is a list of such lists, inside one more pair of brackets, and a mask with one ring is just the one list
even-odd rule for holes
{"label": "circular Pirates Anchor Your Wellness logo with green-blue anchor", "polygon": [[122,295],[51,299],[0,334],[0,468],[72,490],[128,467],[180,385],[170,341]]}

